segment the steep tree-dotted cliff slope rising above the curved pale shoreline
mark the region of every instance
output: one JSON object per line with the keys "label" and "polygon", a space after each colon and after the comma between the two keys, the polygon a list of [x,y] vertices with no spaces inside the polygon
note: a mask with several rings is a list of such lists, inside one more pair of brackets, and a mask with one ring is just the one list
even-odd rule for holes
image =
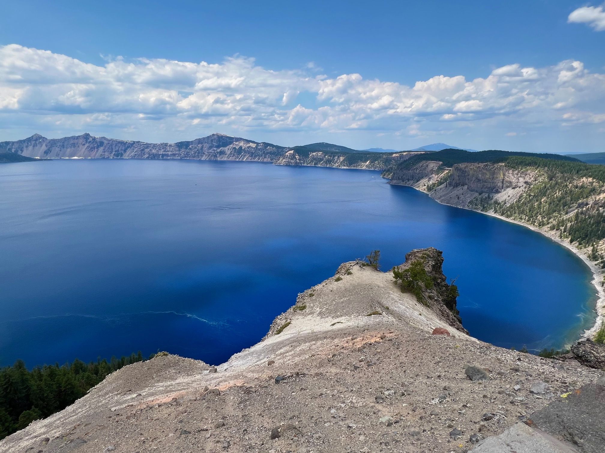
{"label": "steep tree-dotted cliff slope rising above the curved pale shoreline", "polygon": [[383,176],[444,204],[498,214],[552,231],[605,268],[605,167],[512,157],[505,162],[395,165]]}

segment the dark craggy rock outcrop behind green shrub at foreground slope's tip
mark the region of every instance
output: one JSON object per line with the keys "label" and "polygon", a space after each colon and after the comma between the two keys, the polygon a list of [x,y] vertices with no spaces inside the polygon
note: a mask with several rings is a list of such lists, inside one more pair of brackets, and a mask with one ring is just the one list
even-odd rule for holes
{"label": "dark craggy rock outcrop behind green shrub at foreground slope's tip", "polygon": [[443,252],[434,247],[412,250],[405,255],[405,263],[397,268],[400,271],[407,269],[414,261],[422,262],[433,280],[433,288],[424,291],[428,306],[454,329],[468,333],[468,330],[462,327],[462,318],[456,308],[457,291],[448,284],[443,274]]}

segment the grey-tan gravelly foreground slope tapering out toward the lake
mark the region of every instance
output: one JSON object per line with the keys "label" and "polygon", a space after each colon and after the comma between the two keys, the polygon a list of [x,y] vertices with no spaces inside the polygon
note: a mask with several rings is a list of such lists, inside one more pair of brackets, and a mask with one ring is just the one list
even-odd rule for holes
{"label": "grey-tan gravelly foreground slope tapering out toward the lake", "polygon": [[[436,249],[402,269],[419,258],[445,282]],[[425,296],[344,263],[226,363],[160,354],[129,365],[0,452],[603,451],[597,371],[477,341],[444,302],[446,283]]]}

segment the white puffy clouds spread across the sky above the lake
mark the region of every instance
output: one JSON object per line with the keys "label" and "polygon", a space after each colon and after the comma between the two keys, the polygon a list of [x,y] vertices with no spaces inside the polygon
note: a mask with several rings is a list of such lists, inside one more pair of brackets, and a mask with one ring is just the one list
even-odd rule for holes
{"label": "white puffy clouds spread across the sky above the lake", "polygon": [[[577,11],[570,21],[586,17]],[[528,126],[605,123],[605,74],[574,60],[543,68],[515,63],[474,80],[438,75],[413,86],[318,69],[272,71],[241,56],[220,63],[117,57],[99,66],[5,45],[0,127],[184,140],[214,131],[430,137],[477,126],[502,126],[502,137],[514,137],[511,130]]]}

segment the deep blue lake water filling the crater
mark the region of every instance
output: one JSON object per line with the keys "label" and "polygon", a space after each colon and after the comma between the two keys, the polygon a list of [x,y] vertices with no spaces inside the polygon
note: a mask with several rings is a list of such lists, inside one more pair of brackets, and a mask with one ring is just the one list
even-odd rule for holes
{"label": "deep blue lake water filling the crater", "polygon": [[250,162],[0,165],[0,365],[254,344],[345,261],[443,250],[471,335],[561,347],[594,320],[589,269],[523,226],[379,172]]}

